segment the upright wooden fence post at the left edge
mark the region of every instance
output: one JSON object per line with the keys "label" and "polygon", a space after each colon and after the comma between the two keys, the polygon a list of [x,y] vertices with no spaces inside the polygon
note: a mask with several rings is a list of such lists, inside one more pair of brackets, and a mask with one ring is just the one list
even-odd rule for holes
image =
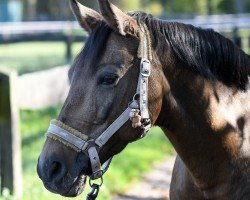
{"label": "upright wooden fence post at the left edge", "polygon": [[17,73],[0,69],[0,171],[1,193],[8,188],[17,198],[22,193],[21,143],[17,102]]}

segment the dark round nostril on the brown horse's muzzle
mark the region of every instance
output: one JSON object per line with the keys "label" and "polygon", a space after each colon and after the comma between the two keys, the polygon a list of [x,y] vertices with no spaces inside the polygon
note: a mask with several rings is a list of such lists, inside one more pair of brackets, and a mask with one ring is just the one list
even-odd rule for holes
{"label": "dark round nostril on the brown horse's muzzle", "polygon": [[66,174],[66,167],[62,162],[52,161],[48,167],[47,177],[49,181],[60,182]]}

